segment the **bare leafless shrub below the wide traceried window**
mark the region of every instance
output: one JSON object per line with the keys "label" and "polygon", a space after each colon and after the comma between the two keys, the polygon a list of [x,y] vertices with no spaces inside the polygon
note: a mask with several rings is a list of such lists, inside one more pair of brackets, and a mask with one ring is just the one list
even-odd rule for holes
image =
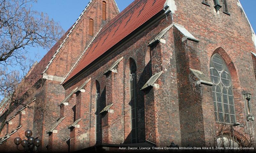
{"label": "bare leafless shrub below the wide traceried window", "polygon": [[[225,122],[224,115],[224,121],[214,123],[212,126],[214,128],[212,130],[208,146],[213,149],[218,147],[219,152],[246,152],[250,150],[240,149],[240,147],[255,148],[255,122],[251,120],[246,121],[245,126],[236,124],[237,123],[230,124]],[[237,147],[239,149],[233,149]]]}

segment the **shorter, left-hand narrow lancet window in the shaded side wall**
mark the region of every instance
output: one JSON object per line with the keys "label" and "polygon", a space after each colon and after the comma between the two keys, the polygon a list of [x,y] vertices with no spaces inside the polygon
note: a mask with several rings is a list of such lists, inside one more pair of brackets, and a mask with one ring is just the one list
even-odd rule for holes
{"label": "shorter, left-hand narrow lancet window in the shaded side wall", "polygon": [[96,143],[100,143],[100,120],[99,120],[99,101],[100,101],[100,87],[98,81],[96,81]]}

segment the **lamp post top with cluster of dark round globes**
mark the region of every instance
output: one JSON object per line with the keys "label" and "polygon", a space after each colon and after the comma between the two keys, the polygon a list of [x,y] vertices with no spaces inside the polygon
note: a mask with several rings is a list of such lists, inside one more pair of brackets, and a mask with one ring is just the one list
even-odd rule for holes
{"label": "lamp post top with cluster of dark round globes", "polygon": [[[27,130],[25,132],[25,136],[27,137],[27,140],[26,139],[21,140],[20,137],[14,138],[14,143],[17,145],[17,149],[19,151],[33,152],[35,146],[39,147],[41,145],[41,143],[42,143],[41,140],[35,139],[34,137],[32,137],[32,131],[31,130]],[[20,150],[18,148],[19,144],[22,145],[23,150]]]}

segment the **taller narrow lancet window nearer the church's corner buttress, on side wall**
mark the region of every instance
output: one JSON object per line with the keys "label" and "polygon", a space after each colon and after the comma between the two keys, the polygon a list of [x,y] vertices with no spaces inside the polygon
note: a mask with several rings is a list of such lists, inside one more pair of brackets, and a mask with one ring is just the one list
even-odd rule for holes
{"label": "taller narrow lancet window nearer the church's corner buttress, on side wall", "polygon": [[137,110],[137,83],[136,64],[130,60],[130,106],[131,106],[131,142],[138,142],[138,110]]}

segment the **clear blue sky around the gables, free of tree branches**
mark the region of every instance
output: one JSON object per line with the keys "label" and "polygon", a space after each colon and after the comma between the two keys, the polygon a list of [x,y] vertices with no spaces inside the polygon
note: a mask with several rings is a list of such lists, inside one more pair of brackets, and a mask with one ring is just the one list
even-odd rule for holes
{"label": "clear blue sky around the gables, free of tree branches", "polygon": [[[89,0],[38,0],[38,2],[33,5],[33,9],[35,11],[47,13],[49,18],[53,18],[55,21],[59,22],[62,28],[66,31],[74,24],[88,2]],[[132,2],[133,0],[116,0],[120,11],[125,9]],[[240,2],[256,32],[256,0],[240,0]],[[31,48],[31,52],[39,53],[40,56],[35,60],[40,61],[47,50]]]}

